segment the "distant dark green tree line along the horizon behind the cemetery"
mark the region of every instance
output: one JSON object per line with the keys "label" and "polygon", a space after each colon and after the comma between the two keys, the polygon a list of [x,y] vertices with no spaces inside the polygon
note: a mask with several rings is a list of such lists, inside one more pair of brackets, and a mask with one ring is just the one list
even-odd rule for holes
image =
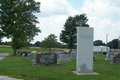
{"label": "distant dark green tree line along the horizon behind the cemetery", "polygon": [[[51,36],[55,36],[54,34],[50,34],[48,35],[48,37],[51,37]],[[67,48],[67,49],[70,49],[68,45],[66,44],[63,44],[61,42],[57,42],[57,41],[53,41],[52,39],[48,39],[48,37],[46,37],[44,40],[42,41],[36,41],[35,43],[28,43],[26,44],[24,47],[41,47],[43,49],[45,48]],[[54,38],[57,38],[54,37]],[[57,39],[55,39],[57,40]],[[54,44],[54,46],[51,46],[51,44],[48,44],[48,43],[51,43]],[[94,46],[106,46],[106,44],[102,41],[102,40],[95,40],[93,42]],[[11,45],[11,42],[0,42],[0,45]],[[51,47],[49,47],[51,46]],[[112,41],[109,41],[107,43],[107,46],[110,47],[111,49],[118,49],[118,47],[120,47],[120,42],[118,41],[118,39],[113,39]],[[73,49],[76,49],[77,48],[77,45],[74,45],[73,46]]]}

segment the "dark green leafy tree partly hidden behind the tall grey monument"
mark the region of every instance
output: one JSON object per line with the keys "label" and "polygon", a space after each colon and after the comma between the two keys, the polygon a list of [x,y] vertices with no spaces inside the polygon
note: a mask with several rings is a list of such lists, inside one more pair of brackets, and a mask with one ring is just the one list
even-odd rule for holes
{"label": "dark green leafy tree partly hidden behind the tall grey monument", "polygon": [[76,44],[76,27],[89,27],[87,24],[86,14],[76,15],[74,17],[68,17],[63,27],[64,30],[60,33],[60,41],[67,44],[70,48],[70,52],[73,49],[73,46]]}

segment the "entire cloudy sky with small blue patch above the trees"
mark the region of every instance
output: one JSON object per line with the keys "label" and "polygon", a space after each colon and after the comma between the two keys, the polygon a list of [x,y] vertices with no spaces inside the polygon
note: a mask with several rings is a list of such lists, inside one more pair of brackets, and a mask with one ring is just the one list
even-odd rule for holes
{"label": "entire cloudy sky with small blue patch above the trees", "polygon": [[[34,37],[42,41],[50,34],[59,35],[69,16],[85,13],[88,24],[94,28],[94,41],[117,39],[120,35],[120,0],[36,0],[41,2],[41,13],[37,14],[42,33]],[[5,41],[6,39],[3,39]]]}

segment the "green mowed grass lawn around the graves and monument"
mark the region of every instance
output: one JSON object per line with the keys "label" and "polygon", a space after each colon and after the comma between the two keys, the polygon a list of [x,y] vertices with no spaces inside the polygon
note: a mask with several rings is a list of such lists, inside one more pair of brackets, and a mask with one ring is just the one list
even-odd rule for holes
{"label": "green mowed grass lawn around the graves and monument", "polygon": [[[33,51],[23,49],[23,51]],[[0,75],[24,80],[120,80],[120,65],[110,64],[105,55],[96,55],[93,71],[100,75],[77,76],[76,59],[69,62],[59,62],[60,66],[32,66],[32,61],[19,55],[13,56],[11,48],[0,48],[0,53],[10,53],[0,61]]]}

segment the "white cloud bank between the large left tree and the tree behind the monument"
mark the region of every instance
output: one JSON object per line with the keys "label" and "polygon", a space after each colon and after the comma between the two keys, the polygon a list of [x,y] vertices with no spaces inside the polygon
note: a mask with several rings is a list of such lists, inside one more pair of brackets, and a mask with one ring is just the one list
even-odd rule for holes
{"label": "white cloud bank between the large left tree and the tree behind the monument", "polygon": [[42,41],[50,34],[55,34],[59,41],[59,35],[63,29],[68,16],[79,14],[79,12],[66,0],[36,0],[41,2],[41,13],[37,14],[42,33],[34,38],[34,42]]}

